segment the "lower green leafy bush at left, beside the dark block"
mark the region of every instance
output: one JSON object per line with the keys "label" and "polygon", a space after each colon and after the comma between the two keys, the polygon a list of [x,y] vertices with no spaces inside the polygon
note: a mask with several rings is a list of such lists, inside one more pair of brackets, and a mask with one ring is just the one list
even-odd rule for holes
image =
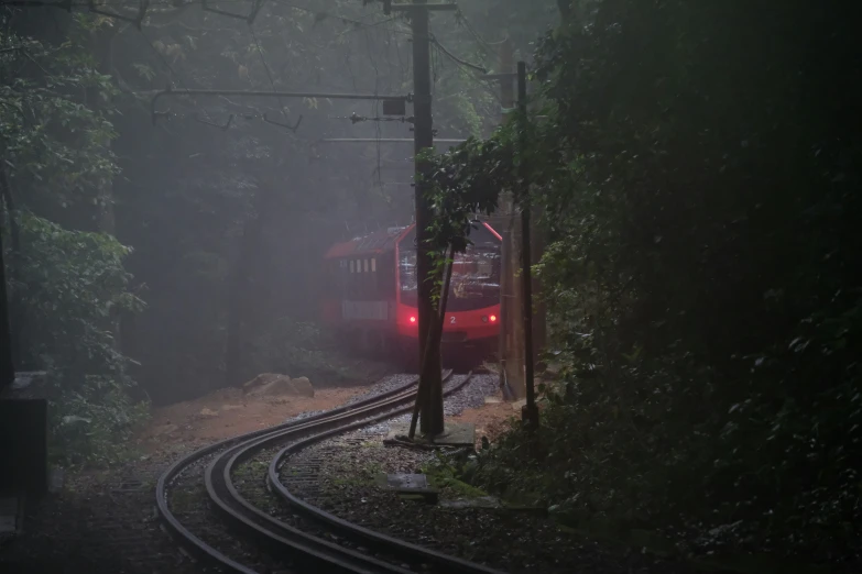
{"label": "lower green leafy bush at left, beside the dark block", "polygon": [[48,372],[52,452],[73,464],[114,462],[146,413],[129,396],[130,360],[112,332],[119,313],[143,308],[127,290],[130,250],[28,212],[20,224],[21,274],[10,287],[28,319],[29,358]]}

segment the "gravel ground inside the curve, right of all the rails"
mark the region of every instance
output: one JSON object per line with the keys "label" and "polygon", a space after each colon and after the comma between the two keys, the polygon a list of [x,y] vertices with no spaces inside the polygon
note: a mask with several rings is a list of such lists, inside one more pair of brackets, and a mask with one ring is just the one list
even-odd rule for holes
{"label": "gravel ground inside the curve, right of all the rails", "polygon": [[[446,386],[458,382],[454,376]],[[477,375],[446,399],[448,416],[480,407],[497,391],[497,377]],[[291,459],[283,468],[319,465],[318,484],[294,493],[308,503],[365,528],[417,543],[502,572],[579,572],[654,574],[687,572],[679,564],[661,562],[588,541],[559,528],[550,519],[502,508],[470,507],[482,493],[463,487],[444,487],[441,504],[407,499],[381,486],[390,473],[421,473],[436,460],[428,451],[383,445],[393,422],[403,415],[341,437],[321,441]],[[283,475],[284,476],[284,475]],[[448,501],[468,501],[465,507]],[[434,566],[425,570],[436,572]]]}

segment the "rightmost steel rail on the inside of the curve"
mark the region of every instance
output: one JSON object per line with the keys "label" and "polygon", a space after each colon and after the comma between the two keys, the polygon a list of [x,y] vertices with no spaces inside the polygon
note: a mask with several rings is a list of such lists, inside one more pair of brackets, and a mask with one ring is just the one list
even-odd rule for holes
{"label": "rightmost steel rail on the inside of the curve", "polygon": [[[472,372],[468,374],[466,379],[461,382],[460,385],[458,385],[454,389],[447,390],[444,396],[447,396],[451,393],[455,393],[458,388],[462,387],[472,376]],[[415,395],[415,393],[414,393]],[[403,413],[403,412],[410,412],[412,410],[413,406],[408,405],[407,407],[404,407],[403,409],[400,409],[395,412],[390,412],[384,416],[378,417],[378,419],[384,419],[384,418],[391,418],[395,415]],[[272,489],[281,496],[287,504],[291,505],[291,508],[315,520],[318,520],[320,522],[324,522],[328,525],[331,528],[335,528],[336,530],[341,531],[346,536],[349,536],[351,538],[359,538],[365,540],[368,543],[373,544],[378,548],[385,549],[393,553],[399,553],[402,555],[410,555],[414,559],[416,556],[421,556],[423,560],[437,564],[439,566],[443,566],[444,572],[460,572],[465,574],[503,574],[501,571],[491,569],[489,566],[485,566],[483,564],[477,564],[474,562],[469,562],[467,560],[462,560],[456,556],[451,556],[449,554],[445,554],[443,552],[438,552],[436,550],[432,550],[425,547],[421,547],[417,544],[413,544],[411,542],[406,542],[404,540],[400,540],[393,537],[390,537],[388,534],[383,534],[382,532],[378,532],[364,527],[361,527],[359,525],[356,525],[353,522],[350,522],[348,520],[345,520],[342,518],[339,518],[330,512],[327,512],[326,510],[323,510],[321,508],[318,508],[314,505],[310,505],[303,500],[302,498],[297,497],[293,493],[290,492],[290,489],[281,482],[281,477],[279,475],[282,462],[288,459],[291,455],[296,454],[297,452],[302,451],[304,448],[315,443],[319,442],[324,439],[327,439],[331,437],[332,434],[346,432],[348,430],[353,430],[360,427],[363,427],[365,424],[369,424],[370,422],[374,422],[374,420],[369,421],[360,421],[357,423],[349,424],[347,427],[340,427],[338,429],[328,430],[325,432],[321,432],[319,434],[315,434],[313,437],[308,437],[306,439],[299,440],[295,443],[292,443],[284,449],[282,449],[270,462],[270,470],[269,470],[269,484],[272,487]]]}

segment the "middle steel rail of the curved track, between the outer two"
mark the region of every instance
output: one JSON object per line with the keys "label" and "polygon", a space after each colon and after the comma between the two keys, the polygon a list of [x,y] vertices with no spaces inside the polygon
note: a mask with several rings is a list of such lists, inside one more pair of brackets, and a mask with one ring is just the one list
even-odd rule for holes
{"label": "middle steel rail of the curved track, between the outer two", "polygon": [[[451,371],[446,373],[446,378],[449,378],[451,374]],[[461,383],[459,387],[463,384]],[[454,390],[450,389],[450,391]],[[204,477],[207,493],[216,507],[232,525],[243,527],[255,538],[271,547],[275,547],[280,551],[285,549],[297,551],[301,554],[325,562],[327,566],[339,572],[407,574],[410,573],[407,570],[393,566],[352,550],[343,549],[338,544],[310,536],[275,519],[249,503],[237,490],[231,475],[236,466],[242,461],[252,457],[255,453],[265,450],[274,443],[282,443],[295,434],[321,428],[329,429],[330,432],[343,432],[343,423],[346,421],[359,419],[356,424],[365,426],[380,418],[390,418],[393,416],[390,411],[394,406],[410,402],[415,396],[415,391],[411,390],[410,387],[400,387],[394,393],[379,395],[370,401],[363,401],[363,405],[358,408],[334,415],[331,412],[320,413],[314,420],[301,420],[297,421],[298,424],[265,433],[230,446],[207,466]],[[371,416],[377,417],[369,420]]]}

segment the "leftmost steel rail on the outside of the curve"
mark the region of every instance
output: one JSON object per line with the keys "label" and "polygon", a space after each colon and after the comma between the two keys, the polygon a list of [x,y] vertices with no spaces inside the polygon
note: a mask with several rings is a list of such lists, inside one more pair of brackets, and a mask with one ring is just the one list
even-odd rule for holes
{"label": "leftmost steel rail on the outside of the curve", "polygon": [[232,444],[240,443],[242,441],[249,441],[259,437],[262,437],[264,434],[269,434],[272,432],[279,432],[287,428],[296,427],[298,424],[306,424],[310,421],[324,419],[327,417],[331,417],[334,415],[337,415],[339,412],[347,412],[352,409],[362,408],[368,405],[372,405],[375,401],[380,401],[382,399],[385,399],[386,397],[391,397],[394,395],[399,395],[401,393],[404,393],[408,388],[415,386],[418,383],[418,377],[412,379],[410,383],[406,383],[404,385],[400,385],[393,389],[386,390],[384,393],[381,393],[380,395],[369,397],[363,400],[359,400],[352,405],[345,405],[331,410],[328,410],[326,412],[320,412],[318,415],[314,415],[310,417],[307,417],[305,419],[301,420],[294,420],[290,422],[285,422],[283,424],[279,424],[275,427],[271,427],[269,429],[261,429],[258,431],[252,431],[245,434],[240,434],[238,437],[233,437],[230,439],[226,439],[222,441],[215,442],[212,444],[209,444],[203,449],[199,449],[197,451],[194,451],[186,456],[181,457],[174,464],[172,464],[160,477],[156,483],[155,487],[155,503],[156,503],[156,509],[162,517],[162,519],[165,522],[165,527],[168,529],[168,533],[174,536],[175,538],[179,539],[179,542],[182,545],[186,547],[188,550],[190,550],[194,554],[196,554],[198,558],[201,558],[204,560],[214,561],[217,562],[222,567],[228,569],[229,572],[238,572],[241,574],[255,574],[254,571],[243,566],[242,564],[239,564],[238,562],[231,560],[230,558],[226,556],[218,550],[214,549],[206,542],[204,542],[200,538],[196,537],[194,533],[192,533],[187,528],[185,528],[182,522],[176,518],[174,512],[171,510],[171,507],[168,505],[167,500],[167,490],[168,486],[172,483],[172,481],[177,477],[182,472],[197,462],[198,460],[203,459],[204,456],[207,456],[214,452],[217,452],[220,449],[229,448]]}

